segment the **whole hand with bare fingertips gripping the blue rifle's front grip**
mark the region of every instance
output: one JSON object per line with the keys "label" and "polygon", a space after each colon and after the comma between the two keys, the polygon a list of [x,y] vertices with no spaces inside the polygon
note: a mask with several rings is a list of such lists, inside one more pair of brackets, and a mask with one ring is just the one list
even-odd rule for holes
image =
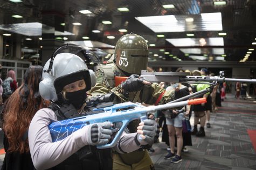
{"label": "whole hand with bare fingertips gripping the blue rifle's front grip", "polygon": [[141,122],[139,124],[139,127],[137,127],[137,132],[139,135],[137,135],[138,137],[138,141],[142,144],[142,145],[153,145],[154,141],[155,141],[155,137],[157,135],[157,123],[155,120],[144,120],[143,122]]}

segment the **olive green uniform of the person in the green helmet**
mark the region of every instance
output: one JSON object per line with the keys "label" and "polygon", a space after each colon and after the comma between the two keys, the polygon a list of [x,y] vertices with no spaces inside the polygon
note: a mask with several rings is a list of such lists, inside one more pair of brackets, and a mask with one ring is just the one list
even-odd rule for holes
{"label": "olive green uniform of the person in the green helmet", "polygon": [[[165,92],[158,84],[153,83],[150,86],[143,86],[142,90],[137,92],[129,92],[128,96],[122,94],[120,85],[115,86],[115,76],[126,77],[124,72],[117,68],[113,61],[109,61],[106,65],[100,65],[100,69],[95,71],[97,83],[92,87],[90,93],[93,95],[105,94],[114,92],[121,102],[144,102],[148,105],[165,104],[174,100],[174,91]],[[135,123],[135,122],[134,122]],[[129,131],[136,132],[137,123],[135,125],[129,124]],[[126,163],[125,163],[126,162]],[[113,169],[154,169],[153,163],[147,150],[134,151],[131,153],[114,154],[113,156]]]}

